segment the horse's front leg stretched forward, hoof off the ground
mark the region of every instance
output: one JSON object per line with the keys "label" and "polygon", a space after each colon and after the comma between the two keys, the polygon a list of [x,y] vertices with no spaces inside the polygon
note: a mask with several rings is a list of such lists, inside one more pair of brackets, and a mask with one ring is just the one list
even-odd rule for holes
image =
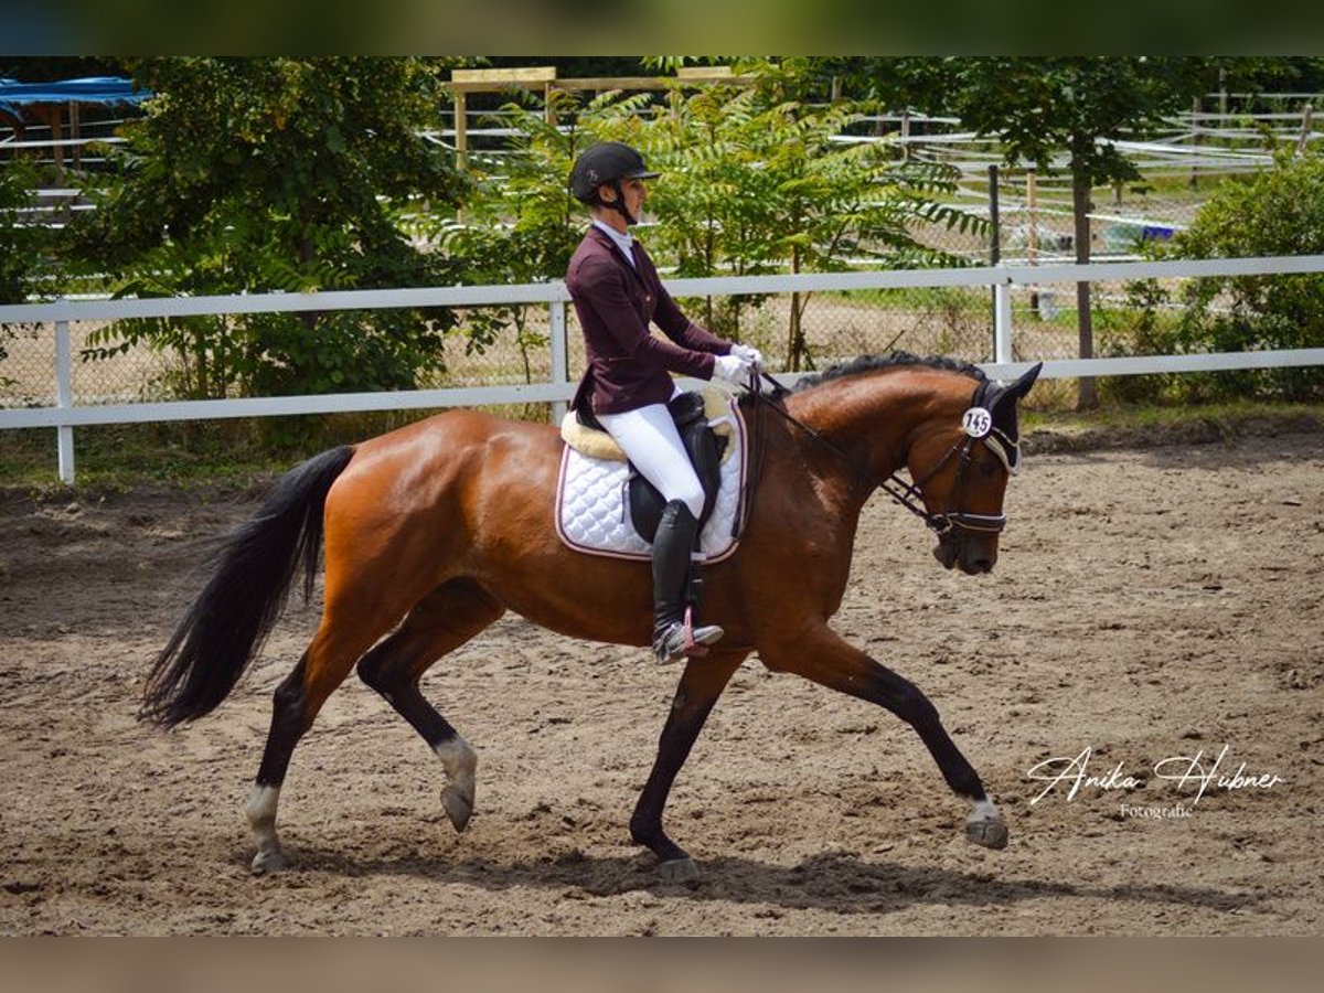
{"label": "horse's front leg stretched forward, hoof off the ground", "polygon": [[1002,816],[985,794],[978,773],[947,733],[937,708],[918,686],[879,665],[826,625],[816,626],[775,649],[763,650],[760,646],[760,657],[769,669],[797,673],[833,690],[880,704],[915,728],[947,785],[970,802],[965,837],[988,849],[1006,847]]}

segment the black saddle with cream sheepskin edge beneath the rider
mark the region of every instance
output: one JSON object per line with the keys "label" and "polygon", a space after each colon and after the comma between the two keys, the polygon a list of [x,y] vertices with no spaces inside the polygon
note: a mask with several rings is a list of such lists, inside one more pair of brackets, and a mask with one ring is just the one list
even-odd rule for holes
{"label": "black saddle with cream sheepskin edge beneath the rider", "polygon": [[[714,399],[718,404],[722,402],[720,399]],[[681,393],[666,406],[671,420],[675,421],[677,432],[681,434],[681,444],[685,446],[686,454],[690,455],[690,463],[699,477],[699,485],[703,487],[703,512],[699,514],[699,531],[702,532],[703,526],[712,516],[712,506],[722,483],[722,458],[730,442],[731,429],[728,424],[722,424],[719,420],[716,428],[724,426],[727,430],[723,434],[718,433],[715,426],[708,422],[708,400],[699,393]],[[567,429],[567,424],[572,420],[579,430]],[[561,437],[567,445],[581,454],[629,461],[616,440],[606,433],[592,413],[585,410],[572,410],[567,414],[561,424]],[[633,463],[629,470],[628,486],[630,522],[638,535],[645,542],[651,543],[657,538],[658,522],[662,519],[666,499]]]}

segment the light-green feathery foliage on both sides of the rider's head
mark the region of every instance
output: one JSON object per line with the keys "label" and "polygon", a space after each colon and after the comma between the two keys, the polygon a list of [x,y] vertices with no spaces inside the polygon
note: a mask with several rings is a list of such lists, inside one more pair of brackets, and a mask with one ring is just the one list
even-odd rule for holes
{"label": "light-green feathery foliage on both sides of the rider's head", "polygon": [[[650,61],[671,69],[671,57]],[[794,64],[798,66],[798,62]],[[508,155],[470,155],[477,195],[463,224],[434,221],[438,240],[473,282],[561,278],[583,234],[585,212],[568,195],[571,166],[600,140],[639,148],[662,172],[651,184],[645,237],[655,258],[681,277],[831,271],[869,266],[959,265],[914,236],[920,224],[967,230],[982,221],[943,201],[955,171],[907,164],[884,144],[842,144],[862,107],[812,106],[798,99],[796,70],[768,61],[740,62],[757,86],[674,87],[665,103],[646,93],[608,93],[580,106],[561,93],[543,113],[503,107],[516,128]],[[573,120],[557,128],[553,120]],[[798,318],[808,295],[794,301],[788,363],[805,355]],[[753,297],[706,301],[699,316],[719,334],[739,338],[741,310]],[[514,326],[516,308],[486,308],[470,326],[482,348]]]}

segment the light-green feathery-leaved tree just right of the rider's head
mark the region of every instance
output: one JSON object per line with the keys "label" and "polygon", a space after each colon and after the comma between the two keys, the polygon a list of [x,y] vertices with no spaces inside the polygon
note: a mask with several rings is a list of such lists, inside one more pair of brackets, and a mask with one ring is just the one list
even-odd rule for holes
{"label": "light-green feathery-leaved tree just right of the rider's head", "polygon": [[[904,163],[886,143],[837,140],[858,124],[863,106],[798,99],[796,68],[737,69],[757,85],[708,86],[674,99],[643,135],[665,167],[653,209],[683,274],[839,271],[862,260],[894,269],[961,263],[914,236],[920,224],[980,224],[941,199],[955,192],[953,169]],[[809,294],[792,294],[792,369],[810,357],[808,305]]]}

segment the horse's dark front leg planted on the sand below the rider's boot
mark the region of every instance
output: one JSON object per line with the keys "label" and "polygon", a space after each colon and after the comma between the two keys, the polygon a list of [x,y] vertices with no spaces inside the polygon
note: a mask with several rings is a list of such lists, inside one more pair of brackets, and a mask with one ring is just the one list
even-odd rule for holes
{"label": "horse's dark front leg planted on the sand below the rider's boot", "polygon": [[703,722],[708,719],[712,706],[731,681],[732,673],[740,667],[745,654],[712,651],[704,658],[691,659],[686,663],[681,685],[671,700],[671,712],[662,727],[653,771],[630,817],[630,837],[658,857],[658,874],[663,879],[682,882],[699,876],[694,859],[662,830],[662,809],[666,806],[677,773],[681,772],[690,748],[703,730]]}

